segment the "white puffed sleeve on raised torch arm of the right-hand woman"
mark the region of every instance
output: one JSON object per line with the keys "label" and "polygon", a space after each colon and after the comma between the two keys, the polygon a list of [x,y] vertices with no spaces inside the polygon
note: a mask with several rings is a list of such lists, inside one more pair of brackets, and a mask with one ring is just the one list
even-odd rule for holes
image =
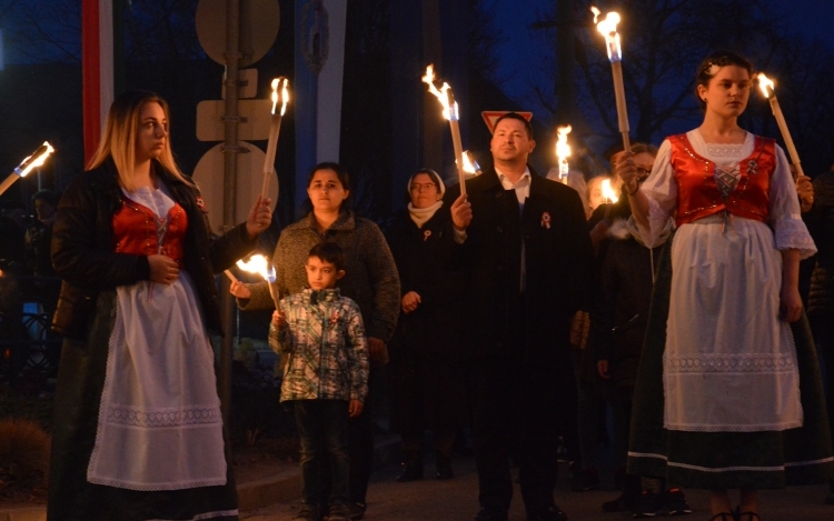
{"label": "white puffed sleeve on raised torch arm of the right-hand woman", "polygon": [[648,248],[663,244],[672,231],[672,214],[677,206],[677,181],[672,169],[671,156],[672,143],[664,140],[657,151],[652,173],[639,188],[648,198],[649,228],[637,223],[637,229]]}

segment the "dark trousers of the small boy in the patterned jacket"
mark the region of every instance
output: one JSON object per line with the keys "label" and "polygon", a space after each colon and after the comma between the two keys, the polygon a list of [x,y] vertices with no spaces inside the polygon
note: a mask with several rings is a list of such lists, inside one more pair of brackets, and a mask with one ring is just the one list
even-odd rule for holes
{"label": "dark trousers of the small boy in the patterned jacket", "polygon": [[329,468],[327,504],[347,504],[348,402],[346,400],[297,400],[296,428],[301,439],[301,479],[304,502],[318,507],[322,501],[321,463]]}

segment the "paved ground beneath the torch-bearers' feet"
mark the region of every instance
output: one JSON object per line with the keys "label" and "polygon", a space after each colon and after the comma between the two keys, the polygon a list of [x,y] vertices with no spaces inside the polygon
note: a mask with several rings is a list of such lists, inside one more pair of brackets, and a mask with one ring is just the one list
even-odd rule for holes
{"label": "paved ground beneath the torch-bearers' feet", "polygon": [[[431,467],[427,467],[431,472]],[[560,469],[563,470],[563,469]],[[426,479],[411,483],[397,483],[397,469],[387,467],[374,473],[368,492],[368,521],[470,521],[478,510],[477,474],[474,461],[455,460],[456,477],[450,481]],[[626,514],[605,514],[599,505],[603,501],[617,495],[613,490],[592,492],[570,492],[566,472],[560,472],[556,492],[559,507],[572,521],[623,521],[631,519]],[[603,477],[604,480],[610,477]],[[827,485],[796,487],[781,491],[761,493],[761,510],[764,521],[834,521],[834,505],[824,504]],[[688,491],[687,498],[693,507],[693,514],[683,519],[706,521],[709,519],[707,494],[704,491]],[[241,518],[247,521],[288,521],[299,507],[298,500],[278,503],[270,508],[248,512]],[[510,521],[526,519],[516,489]],[[663,519],[663,518],[662,518]]]}

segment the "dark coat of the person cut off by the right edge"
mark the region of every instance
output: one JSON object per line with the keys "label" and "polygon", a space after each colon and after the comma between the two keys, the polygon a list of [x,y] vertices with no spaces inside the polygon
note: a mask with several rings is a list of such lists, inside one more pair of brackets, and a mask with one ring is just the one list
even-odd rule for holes
{"label": "dark coat of the person cut off by the right edge", "polygon": [[811,275],[808,317],[834,317],[834,172],[814,179],[814,207],[803,214],[816,243],[816,264]]}

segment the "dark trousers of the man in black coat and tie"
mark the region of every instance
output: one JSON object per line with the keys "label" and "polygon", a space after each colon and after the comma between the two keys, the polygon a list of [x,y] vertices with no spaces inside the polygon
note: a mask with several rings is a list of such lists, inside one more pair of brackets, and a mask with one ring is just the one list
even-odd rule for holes
{"label": "dark trousers of the man in black coat and tie", "polygon": [[509,510],[510,454],[518,462],[527,512],[536,514],[555,504],[557,437],[565,430],[565,411],[572,405],[575,410],[576,383],[567,350],[550,349],[535,361],[503,355],[465,368],[483,508]]}

